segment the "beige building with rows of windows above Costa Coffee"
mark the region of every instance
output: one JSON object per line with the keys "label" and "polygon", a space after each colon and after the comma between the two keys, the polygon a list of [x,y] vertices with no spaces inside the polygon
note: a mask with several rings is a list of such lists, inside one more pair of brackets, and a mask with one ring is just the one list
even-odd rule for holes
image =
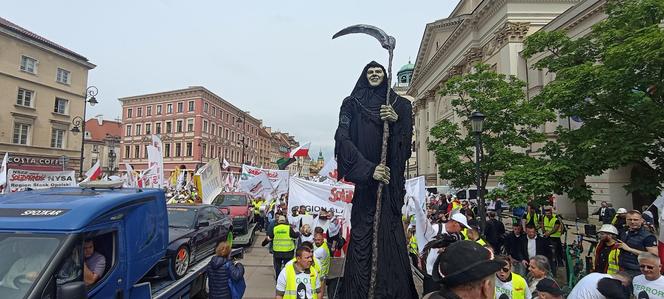
{"label": "beige building with rows of windows above Costa Coffee", "polygon": [[8,168],[78,170],[87,58],[0,18],[0,153]]}

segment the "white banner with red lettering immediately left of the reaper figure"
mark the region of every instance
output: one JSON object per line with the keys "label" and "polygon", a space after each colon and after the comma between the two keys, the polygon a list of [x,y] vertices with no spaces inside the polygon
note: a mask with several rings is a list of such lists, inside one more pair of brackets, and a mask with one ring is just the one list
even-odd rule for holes
{"label": "white banner with red lettering immediately left of the reaper figure", "polygon": [[322,208],[333,210],[335,216],[342,216],[350,224],[354,190],[355,187],[348,184],[326,184],[292,177],[288,191],[289,217],[294,207],[304,205],[310,214],[317,215]]}

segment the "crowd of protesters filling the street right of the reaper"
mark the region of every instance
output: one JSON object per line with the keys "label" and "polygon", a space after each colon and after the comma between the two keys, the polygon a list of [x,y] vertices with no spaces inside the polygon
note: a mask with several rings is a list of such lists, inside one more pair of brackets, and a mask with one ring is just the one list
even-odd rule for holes
{"label": "crowd of protesters filling the street right of the reaper", "polygon": [[[451,195],[406,198],[408,252],[425,298],[662,298],[664,277],[653,213],[602,202],[591,273],[567,285],[566,225],[550,203],[512,208],[497,200],[479,227],[477,205]],[[415,207],[423,207],[418,209]],[[505,223],[511,231],[506,231]],[[511,223],[511,225],[509,225]],[[576,236],[575,236],[576,237]],[[574,238],[576,239],[576,238]]]}

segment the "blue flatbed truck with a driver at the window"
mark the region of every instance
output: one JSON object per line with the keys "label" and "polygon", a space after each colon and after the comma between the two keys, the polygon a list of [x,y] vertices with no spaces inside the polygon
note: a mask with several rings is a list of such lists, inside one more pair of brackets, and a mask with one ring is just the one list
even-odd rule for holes
{"label": "blue flatbed truck with a driver at the window", "polygon": [[[144,279],[165,256],[168,232],[158,189],[52,188],[0,196],[0,298],[204,297],[211,257],[177,280]],[[90,250],[105,259],[94,279],[84,262]]]}

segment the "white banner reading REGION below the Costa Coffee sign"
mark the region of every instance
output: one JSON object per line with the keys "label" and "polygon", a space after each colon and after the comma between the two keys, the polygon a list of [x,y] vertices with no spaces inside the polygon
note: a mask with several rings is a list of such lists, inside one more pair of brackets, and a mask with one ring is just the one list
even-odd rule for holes
{"label": "white banner reading REGION below the Costa Coffee sign", "polygon": [[50,187],[75,187],[74,171],[38,171],[9,169],[7,188],[12,192],[22,188],[44,189]]}

